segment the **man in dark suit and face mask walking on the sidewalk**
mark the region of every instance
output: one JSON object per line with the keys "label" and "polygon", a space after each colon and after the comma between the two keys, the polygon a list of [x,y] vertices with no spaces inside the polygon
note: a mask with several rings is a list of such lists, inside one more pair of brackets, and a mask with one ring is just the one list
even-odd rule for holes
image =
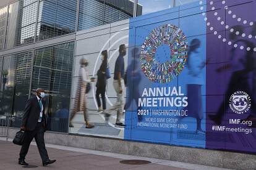
{"label": "man in dark suit and face mask walking on the sidewalk", "polygon": [[46,131],[46,117],[45,117],[45,90],[37,89],[36,96],[28,99],[22,124],[20,129],[25,131],[24,144],[20,150],[19,164],[28,165],[25,162],[25,156],[28,153],[28,148],[33,138],[35,137],[36,145],[43,161],[43,166],[54,163],[56,160],[49,160],[47,150],[45,148],[44,134]]}

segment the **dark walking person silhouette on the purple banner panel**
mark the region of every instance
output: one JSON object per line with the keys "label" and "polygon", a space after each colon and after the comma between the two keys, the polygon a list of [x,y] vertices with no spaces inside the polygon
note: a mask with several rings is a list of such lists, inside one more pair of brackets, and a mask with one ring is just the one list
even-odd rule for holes
{"label": "dark walking person silhouette on the purple banner panel", "polygon": [[[233,29],[239,31],[239,33],[244,33],[244,28],[241,25],[233,26]],[[229,39],[235,41],[234,44],[242,44],[245,47],[250,47],[250,49],[254,48],[254,44],[247,39],[238,39],[239,35],[237,35],[234,31],[229,34]],[[231,75],[231,79],[229,80],[228,89],[226,90],[225,98],[221,103],[220,108],[217,111],[216,115],[208,115],[208,117],[214,121],[216,124],[221,124],[223,121],[223,116],[226,110],[229,108],[229,98],[234,92],[244,91],[249,94],[251,97],[251,110],[256,113],[256,105],[255,100],[252,95],[252,88],[250,88],[249,81],[252,80],[250,78],[251,73],[255,70],[254,65],[254,52],[253,51],[243,51],[241,54],[241,49],[237,49],[233,47],[231,49],[231,63],[228,65],[224,65],[224,67],[218,68],[216,71],[219,73],[226,71],[227,69],[232,69],[233,73]],[[252,115],[247,119],[251,119]]]}

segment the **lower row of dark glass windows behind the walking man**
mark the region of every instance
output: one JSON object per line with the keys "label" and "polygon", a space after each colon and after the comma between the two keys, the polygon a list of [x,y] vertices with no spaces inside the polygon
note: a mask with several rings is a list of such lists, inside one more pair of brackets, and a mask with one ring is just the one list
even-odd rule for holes
{"label": "lower row of dark glass windows behind the walking man", "polygon": [[74,42],[0,58],[0,114],[12,115],[11,126],[20,127],[25,103],[40,87],[47,93],[48,129],[67,132],[73,58]]}

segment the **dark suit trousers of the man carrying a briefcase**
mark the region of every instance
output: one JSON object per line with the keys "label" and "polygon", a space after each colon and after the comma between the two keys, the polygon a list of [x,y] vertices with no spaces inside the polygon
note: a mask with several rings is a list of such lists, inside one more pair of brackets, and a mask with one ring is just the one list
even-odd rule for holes
{"label": "dark suit trousers of the man carrying a briefcase", "polygon": [[49,160],[49,156],[47,153],[47,150],[45,148],[45,128],[43,127],[43,123],[38,122],[36,124],[36,127],[33,131],[25,131],[24,134],[24,144],[22,145],[22,148],[20,149],[20,158],[19,160],[25,160],[25,156],[28,153],[28,148],[30,146],[30,143],[32,142],[33,138],[35,137],[36,145],[38,148],[38,151],[40,153],[41,159],[43,163]]}

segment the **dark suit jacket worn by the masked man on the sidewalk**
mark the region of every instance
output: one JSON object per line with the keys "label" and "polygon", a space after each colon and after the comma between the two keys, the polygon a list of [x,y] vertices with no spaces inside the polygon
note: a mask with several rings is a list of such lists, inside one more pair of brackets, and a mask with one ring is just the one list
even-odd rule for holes
{"label": "dark suit jacket worn by the masked man on the sidewalk", "polygon": [[[46,130],[46,117],[45,117],[45,100],[42,100],[43,104],[43,117],[42,123]],[[38,123],[38,119],[40,116],[40,105],[37,100],[37,97],[32,97],[27,100],[25,105],[24,115],[22,118],[21,126],[25,126],[26,131],[33,131]]]}

